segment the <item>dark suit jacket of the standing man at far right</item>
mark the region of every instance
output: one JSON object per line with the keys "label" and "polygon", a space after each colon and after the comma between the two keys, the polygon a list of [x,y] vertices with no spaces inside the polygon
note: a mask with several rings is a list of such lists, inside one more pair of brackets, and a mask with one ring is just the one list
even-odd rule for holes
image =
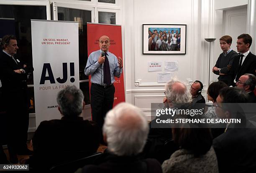
{"label": "dark suit jacket of the standing man at far right", "polygon": [[[233,73],[233,80],[236,79],[236,73],[238,70],[239,61],[240,61],[240,55],[234,58],[233,65],[231,68],[232,70],[231,73]],[[238,79],[241,77],[241,75],[245,73],[251,73],[253,75],[256,75],[256,55],[253,55],[251,52],[246,56],[246,59],[243,61],[243,64],[237,73]]]}

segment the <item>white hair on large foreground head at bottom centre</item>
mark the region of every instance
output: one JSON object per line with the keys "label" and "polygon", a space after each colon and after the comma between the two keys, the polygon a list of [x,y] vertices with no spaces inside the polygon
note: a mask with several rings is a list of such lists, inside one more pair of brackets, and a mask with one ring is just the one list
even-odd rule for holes
{"label": "white hair on large foreground head at bottom centre", "polygon": [[130,103],[120,103],[105,118],[103,133],[108,149],[116,155],[137,155],[143,150],[148,136],[144,113]]}

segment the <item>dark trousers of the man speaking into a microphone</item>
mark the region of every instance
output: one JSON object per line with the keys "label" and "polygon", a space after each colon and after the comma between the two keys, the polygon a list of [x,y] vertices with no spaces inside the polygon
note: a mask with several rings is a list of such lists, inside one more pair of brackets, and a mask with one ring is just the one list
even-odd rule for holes
{"label": "dark trousers of the man speaking into a microphone", "polygon": [[90,91],[92,120],[98,124],[102,132],[106,113],[113,108],[115,87],[114,85],[110,85],[104,88],[92,83]]}

